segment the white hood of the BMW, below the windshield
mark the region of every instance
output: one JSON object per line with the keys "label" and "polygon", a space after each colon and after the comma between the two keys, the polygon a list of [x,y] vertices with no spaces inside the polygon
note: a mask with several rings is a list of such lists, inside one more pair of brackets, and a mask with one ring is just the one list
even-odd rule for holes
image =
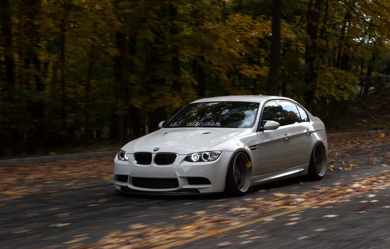
{"label": "white hood of the BMW, below the windshield", "polygon": [[[238,128],[165,128],[129,142],[122,149],[128,153],[170,152],[188,155],[207,149],[229,139],[251,133]],[[158,151],[154,151],[159,148]]]}

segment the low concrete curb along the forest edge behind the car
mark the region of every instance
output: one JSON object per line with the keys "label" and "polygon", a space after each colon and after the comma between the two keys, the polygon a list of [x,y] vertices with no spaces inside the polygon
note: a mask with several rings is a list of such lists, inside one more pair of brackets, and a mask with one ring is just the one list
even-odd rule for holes
{"label": "low concrete curb along the forest edge behind the car", "polygon": [[[390,133],[390,130],[334,133],[334,134],[328,134],[328,137],[345,137],[351,135],[366,135],[366,134],[381,134],[381,133]],[[104,151],[104,152],[80,153],[80,154],[58,155],[58,156],[48,156],[48,157],[30,157],[30,158],[0,160],[0,167],[7,167],[12,165],[24,165],[24,164],[44,164],[48,162],[72,161],[72,160],[79,160],[79,159],[115,157],[117,152],[118,151]]]}

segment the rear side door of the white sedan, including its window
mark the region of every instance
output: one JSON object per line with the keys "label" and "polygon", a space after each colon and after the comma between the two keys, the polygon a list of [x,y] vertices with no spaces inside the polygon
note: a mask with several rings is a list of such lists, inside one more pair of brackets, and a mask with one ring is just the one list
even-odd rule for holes
{"label": "rear side door of the white sedan, including its window", "polygon": [[289,135],[290,165],[285,169],[307,164],[311,153],[311,125],[305,110],[287,100],[278,101],[286,120],[286,134]]}

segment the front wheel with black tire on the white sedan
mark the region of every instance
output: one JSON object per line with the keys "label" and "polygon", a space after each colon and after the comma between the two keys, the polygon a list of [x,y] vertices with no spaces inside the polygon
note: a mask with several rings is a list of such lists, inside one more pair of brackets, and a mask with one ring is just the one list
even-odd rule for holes
{"label": "front wheel with black tire on the white sedan", "polygon": [[[225,194],[227,196],[244,196],[246,192],[248,192],[249,186],[250,186],[250,178],[252,176],[252,167],[246,167],[246,163],[250,162],[250,159],[248,155],[246,155],[245,152],[239,151],[237,152],[230,161],[229,168],[227,169],[227,176],[226,176],[226,182],[225,182]],[[236,164],[236,166],[235,166]],[[242,165],[243,164],[243,165]],[[240,166],[238,166],[240,165]],[[241,168],[241,177],[242,182],[239,181],[239,184],[237,186],[235,176],[234,176],[234,170],[237,168],[245,167],[243,170]],[[236,171],[237,173],[237,171]],[[237,174],[236,174],[237,176]],[[248,182],[249,181],[249,182]],[[241,183],[241,184],[240,184]]]}

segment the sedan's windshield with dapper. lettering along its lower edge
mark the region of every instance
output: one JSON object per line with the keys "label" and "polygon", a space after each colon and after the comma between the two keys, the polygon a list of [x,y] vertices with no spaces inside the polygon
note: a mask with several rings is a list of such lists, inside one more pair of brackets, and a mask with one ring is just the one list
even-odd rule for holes
{"label": "sedan's windshield with dapper. lettering along its lower edge", "polygon": [[258,109],[259,103],[252,102],[192,103],[177,113],[164,128],[251,128]]}

